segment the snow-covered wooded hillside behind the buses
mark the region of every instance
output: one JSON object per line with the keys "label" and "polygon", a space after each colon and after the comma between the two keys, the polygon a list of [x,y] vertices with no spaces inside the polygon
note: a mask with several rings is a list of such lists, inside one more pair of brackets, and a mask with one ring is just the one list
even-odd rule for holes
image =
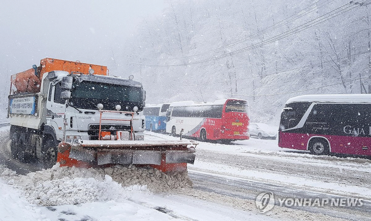
{"label": "snow-covered wooded hillside behind the buses", "polygon": [[349,1],[172,1],[115,68],[142,73],[149,103],[242,98],[253,121],[277,124],[290,97],[361,93],[360,77],[368,91],[367,16]]}

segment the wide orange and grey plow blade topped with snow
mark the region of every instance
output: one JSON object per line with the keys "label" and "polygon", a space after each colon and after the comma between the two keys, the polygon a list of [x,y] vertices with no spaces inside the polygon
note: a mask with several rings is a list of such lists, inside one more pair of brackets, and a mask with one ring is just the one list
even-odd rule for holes
{"label": "wide orange and grey plow blade topped with snow", "polygon": [[149,165],[162,172],[186,171],[195,161],[198,143],[180,141],[61,142],[57,162],[68,167],[110,167],[112,164]]}

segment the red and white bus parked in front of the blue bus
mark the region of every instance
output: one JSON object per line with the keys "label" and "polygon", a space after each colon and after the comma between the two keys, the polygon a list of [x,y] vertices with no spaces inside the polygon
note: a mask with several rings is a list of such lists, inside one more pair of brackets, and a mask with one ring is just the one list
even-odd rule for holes
{"label": "red and white bus parked in front of the blue bus", "polygon": [[167,113],[166,132],[199,137],[201,141],[229,143],[249,139],[249,105],[246,100],[173,102]]}

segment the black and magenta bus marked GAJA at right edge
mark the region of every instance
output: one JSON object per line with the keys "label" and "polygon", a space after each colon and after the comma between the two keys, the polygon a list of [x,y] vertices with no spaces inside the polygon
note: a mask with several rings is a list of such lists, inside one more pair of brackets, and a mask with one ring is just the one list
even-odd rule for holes
{"label": "black and magenta bus marked GAJA at right edge", "polygon": [[281,114],[279,146],[316,155],[371,155],[371,94],[289,99]]}

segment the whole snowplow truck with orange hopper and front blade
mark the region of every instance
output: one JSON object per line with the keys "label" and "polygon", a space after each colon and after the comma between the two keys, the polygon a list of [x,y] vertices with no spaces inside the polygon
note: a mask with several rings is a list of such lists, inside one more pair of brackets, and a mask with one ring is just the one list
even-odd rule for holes
{"label": "whole snowplow truck with orange hopper and front blade", "polygon": [[[15,89],[14,89],[15,88]],[[11,155],[69,167],[150,166],[185,171],[197,143],[145,141],[145,91],[107,67],[57,59],[11,76]]]}

